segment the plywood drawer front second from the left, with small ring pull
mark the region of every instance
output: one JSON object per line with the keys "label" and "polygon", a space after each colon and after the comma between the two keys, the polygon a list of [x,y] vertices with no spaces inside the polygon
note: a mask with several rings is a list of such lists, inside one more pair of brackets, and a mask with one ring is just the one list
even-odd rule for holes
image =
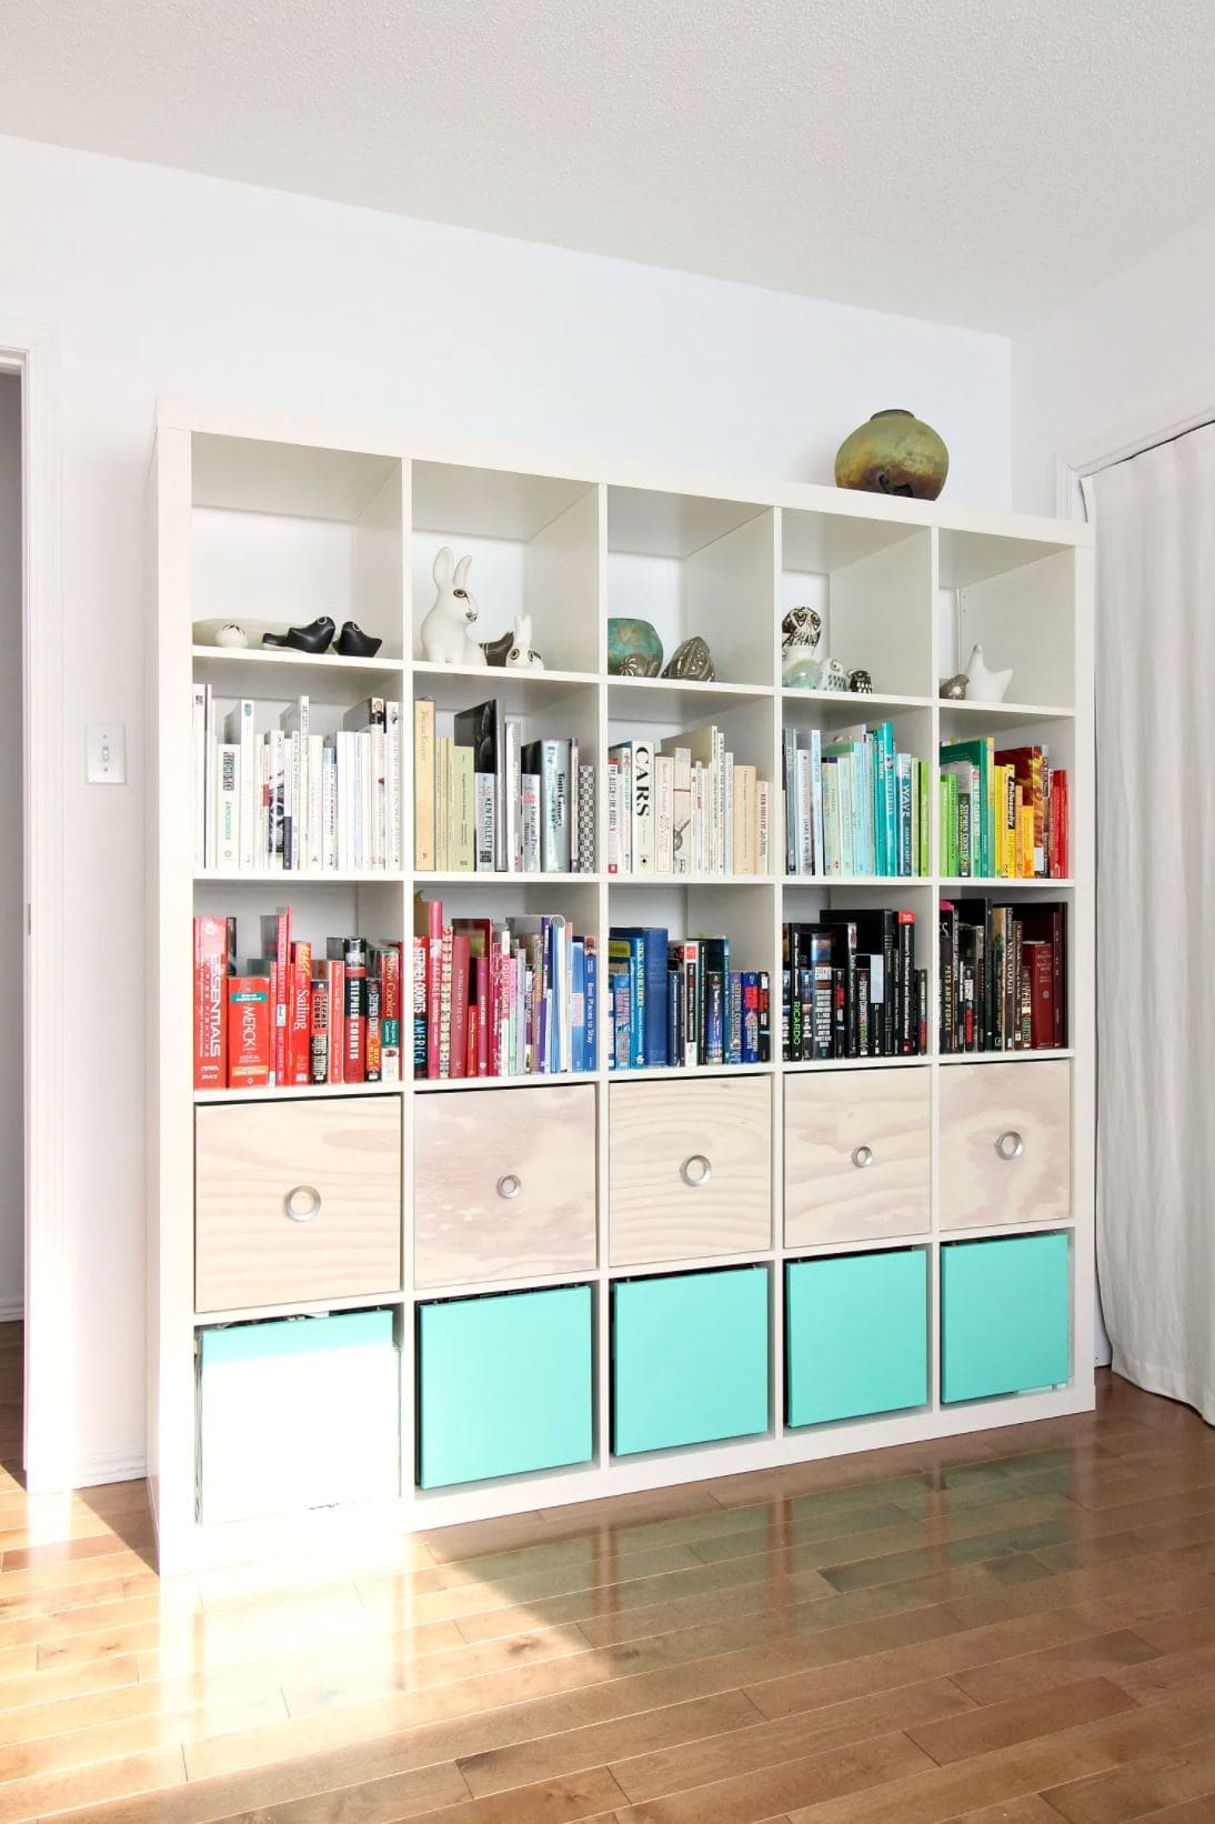
{"label": "plywood drawer front second from the left, with small ring pull", "polygon": [[589,1085],[418,1096],[418,1286],[593,1270],[595,1091]]}

